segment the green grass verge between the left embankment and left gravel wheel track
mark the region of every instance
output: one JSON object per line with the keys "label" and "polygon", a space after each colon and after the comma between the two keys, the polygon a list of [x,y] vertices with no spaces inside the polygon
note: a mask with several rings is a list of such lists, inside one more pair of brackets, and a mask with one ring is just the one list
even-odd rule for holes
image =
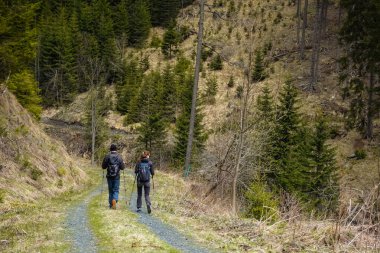
{"label": "green grass verge between the left embankment and left gravel wheel track", "polygon": [[66,211],[93,189],[91,182],[53,199],[13,201],[11,209],[0,215],[0,252],[69,252]]}

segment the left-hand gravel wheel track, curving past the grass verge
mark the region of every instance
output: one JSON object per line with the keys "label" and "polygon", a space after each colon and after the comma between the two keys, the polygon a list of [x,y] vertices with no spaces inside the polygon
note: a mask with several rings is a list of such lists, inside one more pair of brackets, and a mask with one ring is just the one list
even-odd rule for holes
{"label": "left-hand gravel wheel track, curving past the grass verge", "polygon": [[96,239],[89,226],[87,209],[90,200],[99,193],[100,189],[93,191],[83,201],[69,209],[67,213],[66,225],[70,231],[69,240],[72,243],[70,252],[97,252]]}

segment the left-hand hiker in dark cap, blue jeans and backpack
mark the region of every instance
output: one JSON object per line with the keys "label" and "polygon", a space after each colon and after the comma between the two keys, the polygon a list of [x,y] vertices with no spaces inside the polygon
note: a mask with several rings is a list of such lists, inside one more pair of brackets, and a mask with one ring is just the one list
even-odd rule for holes
{"label": "left-hand hiker in dark cap, blue jeans and backpack", "polygon": [[112,209],[116,209],[119,197],[120,170],[124,170],[125,165],[121,156],[117,153],[115,144],[111,144],[110,153],[103,159],[102,168],[107,169],[108,202]]}

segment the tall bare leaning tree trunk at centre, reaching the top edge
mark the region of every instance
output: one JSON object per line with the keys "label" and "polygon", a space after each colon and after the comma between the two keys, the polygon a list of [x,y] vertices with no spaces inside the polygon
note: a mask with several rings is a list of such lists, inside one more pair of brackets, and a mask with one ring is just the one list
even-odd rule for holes
{"label": "tall bare leaning tree trunk at centre, reaching the top edge", "polygon": [[195,60],[193,97],[192,97],[192,101],[191,101],[189,138],[188,138],[188,142],[187,142],[186,158],[185,158],[185,177],[189,174],[191,153],[192,153],[192,147],[193,147],[195,114],[196,114],[196,109],[197,109],[199,69],[200,69],[200,63],[201,63],[202,43],[203,43],[204,0],[200,0],[199,5],[200,5],[200,14],[199,14],[200,17],[199,17],[199,27],[198,27],[198,45],[197,45],[197,56],[196,56],[196,60]]}

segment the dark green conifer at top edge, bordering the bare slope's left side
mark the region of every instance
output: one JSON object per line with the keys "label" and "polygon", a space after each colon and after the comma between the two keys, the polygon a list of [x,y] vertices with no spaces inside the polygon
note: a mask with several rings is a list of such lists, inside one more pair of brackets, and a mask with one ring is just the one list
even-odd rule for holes
{"label": "dark green conifer at top edge, bordering the bare slope's left side", "polygon": [[148,6],[144,0],[132,1],[129,8],[129,43],[135,47],[143,46],[151,27]]}

